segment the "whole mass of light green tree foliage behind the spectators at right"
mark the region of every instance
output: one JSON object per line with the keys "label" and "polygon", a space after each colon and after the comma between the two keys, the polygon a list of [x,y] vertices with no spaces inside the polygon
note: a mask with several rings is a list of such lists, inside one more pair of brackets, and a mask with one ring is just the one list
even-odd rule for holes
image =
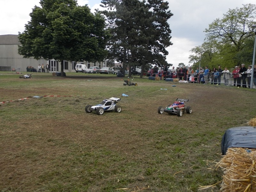
{"label": "whole mass of light green tree foliage behind the spectators at right", "polygon": [[232,68],[242,63],[252,64],[252,26],[255,24],[256,5],[246,4],[242,8],[229,9],[222,19],[215,19],[205,29],[204,43],[190,50],[193,54],[189,56],[189,62],[195,67],[199,60],[210,67],[222,65]]}

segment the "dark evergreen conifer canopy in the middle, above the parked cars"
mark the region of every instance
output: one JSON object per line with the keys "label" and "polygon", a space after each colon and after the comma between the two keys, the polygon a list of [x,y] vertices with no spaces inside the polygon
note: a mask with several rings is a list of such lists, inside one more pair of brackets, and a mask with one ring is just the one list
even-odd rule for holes
{"label": "dark evergreen conifer canopy in the middle, above the parked cars", "polygon": [[[163,0],[102,0],[111,31],[109,57],[124,67],[168,65],[166,47],[171,43],[167,20],[173,15]],[[131,71],[131,70],[129,70]],[[142,71],[143,72],[143,71]],[[142,76],[142,74],[141,74]]]}

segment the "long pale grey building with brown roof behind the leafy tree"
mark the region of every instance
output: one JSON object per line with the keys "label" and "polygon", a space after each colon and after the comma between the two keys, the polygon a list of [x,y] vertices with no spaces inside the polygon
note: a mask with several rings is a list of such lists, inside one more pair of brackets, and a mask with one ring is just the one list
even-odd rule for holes
{"label": "long pale grey building with brown roof behind the leafy tree", "polygon": [[[19,35],[0,35],[0,67],[3,69],[15,69],[16,71],[27,71],[28,66],[38,68],[38,65],[48,63],[51,72],[60,71],[60,62],[52,60],[36,60],[34,58],[23,58],[22,55],[18,53],[18,45],[21,45],[18,39]],[[84,62],[68,62],[64,61],[64,72],[76,72],[75,67],[77,63],[85,64],[87,68],[94,67],[104,67],[106,65],[105,61],[90,63]]]}

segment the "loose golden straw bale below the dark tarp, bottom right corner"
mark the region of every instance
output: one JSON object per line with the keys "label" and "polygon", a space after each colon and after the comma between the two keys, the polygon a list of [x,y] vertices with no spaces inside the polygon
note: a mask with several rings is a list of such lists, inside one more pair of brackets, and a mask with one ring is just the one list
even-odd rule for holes
{"label": "loose golden straw bale below the dark tarp, bottom right corner", "polygon": [[216,166],[224,171],[220,191],[256,192],[256,149],[228,148]]}

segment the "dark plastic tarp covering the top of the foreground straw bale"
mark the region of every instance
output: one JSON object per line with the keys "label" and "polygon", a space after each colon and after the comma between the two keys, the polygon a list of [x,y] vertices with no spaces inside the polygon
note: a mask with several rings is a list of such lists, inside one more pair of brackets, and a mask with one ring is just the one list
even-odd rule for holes
{"label": "dark plastic tarp covering the top of the foreground straw bale", "polygon": [[221,140],[222,155],[231,147],[256,148],[256,127],[229,128]]}

